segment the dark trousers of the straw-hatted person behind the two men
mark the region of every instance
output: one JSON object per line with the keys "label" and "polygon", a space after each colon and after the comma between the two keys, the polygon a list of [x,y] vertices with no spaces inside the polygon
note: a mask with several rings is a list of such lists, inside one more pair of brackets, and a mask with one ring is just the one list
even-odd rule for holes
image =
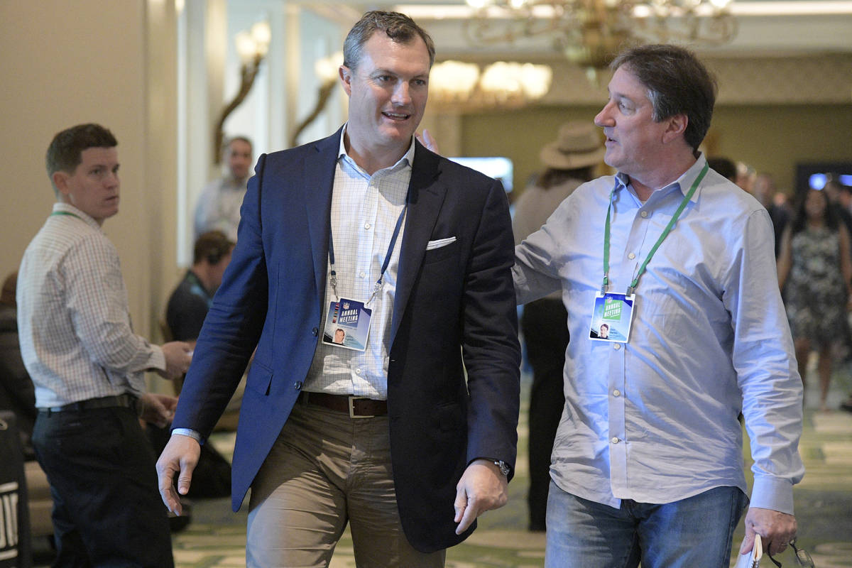
{"label": "dark trousers of the straw-hatted person behind the two men", "polygon": [[530,488],[527,503],[530,529],[544,531],[550,487],[550,453],[565,406],[562,370],[568,345],[567,312],[562,302],[550,298],[524,307],[521,330],[527,359],[533,367],[529,410]]}

